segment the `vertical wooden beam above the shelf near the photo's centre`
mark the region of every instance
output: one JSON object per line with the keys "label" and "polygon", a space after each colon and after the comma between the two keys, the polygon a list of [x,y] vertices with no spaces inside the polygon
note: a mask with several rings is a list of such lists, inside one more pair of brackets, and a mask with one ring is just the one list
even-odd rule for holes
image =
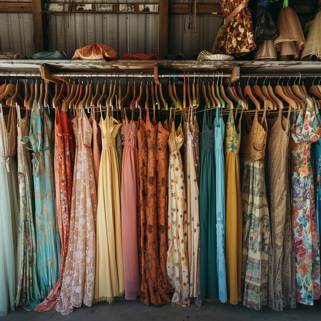
{"label": "vertical wooden beam above the shelf near the photo's centre", "polygon": [[164,57],[168,53],[168,0],[159,0],[158,17],[158,54]]}

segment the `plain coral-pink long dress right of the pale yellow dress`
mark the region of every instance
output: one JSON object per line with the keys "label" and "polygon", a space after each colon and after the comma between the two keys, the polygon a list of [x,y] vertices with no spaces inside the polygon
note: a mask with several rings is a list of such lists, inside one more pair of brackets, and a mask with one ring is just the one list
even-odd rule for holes
{"label": "plain coral-pink long dress right of the pale yellow dress", "polygon": [[[125,113],[125,112],[124,112]],[[135,300],[141,293],[139,284],[138,245],[137,245],[137,147],[136,124],[128,122],[125,114],[122,127],[122,240],[125,277],[125,298]]]}

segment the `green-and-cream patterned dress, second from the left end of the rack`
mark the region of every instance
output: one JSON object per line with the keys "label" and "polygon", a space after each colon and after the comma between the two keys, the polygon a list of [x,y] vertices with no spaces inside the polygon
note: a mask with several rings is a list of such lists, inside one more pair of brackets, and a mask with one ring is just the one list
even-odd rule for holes
{"label": "green-and-cream patterned dress, second from the left end of the rack", "polygon": [[[27,113],[27,111],[26,111]],[[29,150],[22,139],[29,133],[29,116],[21,118],[17,109],[17,155],[19,181],[20,223],[17,242],[17,295],[15,306],[26,310],[34,309],[40,303],[37,279],[36,231],[33,217],[32,167]]]}

